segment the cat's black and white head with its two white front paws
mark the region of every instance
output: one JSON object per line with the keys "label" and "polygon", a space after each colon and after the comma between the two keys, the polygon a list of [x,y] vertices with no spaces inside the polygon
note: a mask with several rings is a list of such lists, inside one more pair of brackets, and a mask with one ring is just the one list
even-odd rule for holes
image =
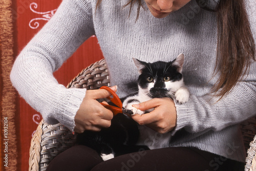
{"label": "cat's black and white head with its two white front paws", "polygon": [[142,115],[145,111],[139,111],[133,104],[138,104],[153,98],[169,97],[184,103],[189,98],[189,91],[185,87],[182,68],[184,55],[180,54],[170,62],[157,61],[147,63],[133,58],[138,68],[138,94],[128,96],[123,100],[123,106],[132,109],[134,114]]}

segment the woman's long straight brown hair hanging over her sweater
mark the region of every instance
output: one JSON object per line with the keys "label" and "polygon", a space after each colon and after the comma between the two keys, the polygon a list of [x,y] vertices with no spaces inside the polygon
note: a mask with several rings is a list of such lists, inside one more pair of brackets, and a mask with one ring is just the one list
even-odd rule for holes
{"label": "woman's long straight brown hair hanging over her sweater", "polygon": [[[102,0],[97,1],[96,8]],[[143,0],[129,0],[125,5],[132,7],[138,3],[137,18]],[[202,6],[200,0],[196,0]],[[233,89],[236,83],[247,73],[250,63],[255,60],[255,44],[250,29],[244,0],[219,1],[214,11],[217,14],[218,42],[215,74],[220,74],[212,88],[212,93],[222,98]]]}

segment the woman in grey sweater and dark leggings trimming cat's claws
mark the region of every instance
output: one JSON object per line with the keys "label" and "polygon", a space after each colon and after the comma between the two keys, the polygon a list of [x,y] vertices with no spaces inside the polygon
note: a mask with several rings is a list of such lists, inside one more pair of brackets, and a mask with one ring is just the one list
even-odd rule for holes
{"label": "woman in grey sweater and dark leggings trimming cat's claws", "polygon": [[191,95],[184,104],[164,98],[137,106],[155,108],[133,119],[159,133],[171,131],[170,147],[102,162],[91,148],[75,146],[57,156],[48,170],[243,170],[239,123],[256,110],[256,20],[249,8],[255,2],[246,3],[64,0],[19,54],[11,74],[20,95],[46,122],[60,122],[77,133],[110,126],[112,112],[95,100],[108,92],[66,89],[52,75],[93,34],[119,97],[129,93],[125,84],[138,76],[132,57],[170,61],[180,53]]}

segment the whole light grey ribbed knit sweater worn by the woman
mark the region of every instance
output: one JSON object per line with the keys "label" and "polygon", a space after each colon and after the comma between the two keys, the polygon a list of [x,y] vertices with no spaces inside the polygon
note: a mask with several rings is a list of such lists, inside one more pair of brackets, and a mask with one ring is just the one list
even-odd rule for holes
{"label": "whole light grey ribbed knit sweater worn by the woman", "polygon": [[[214,6],[216,1],[212,0]],[[195,0],[165,18],[155,18],[146,5],[136,22],[137,6],[123,8],[124,0],[63,0],[46,26],[30,41],[15,61],[11,80],[19,94],[46,122],[60,122],[74,129],[74,116],[86,90],[66,89],[52,73],[84,40],[95,34],[108,63],[118,95],[130,93],[126,83],[138,77],[132,57],[147,62],[170,61],[185,55],[183,75],[189,101],[176,104],[177,126],[171,146],[197,147],[221,156],[245,161],[239,122],[256,112],[256,65],[232,92],[217,102],[209,95],[217,77],[216,14],[199,8]],[[248,7],[256,5],[248,1]],[[248,9],[249,14],[254,11]],[[255,16],[250,15],[255,38]]]}

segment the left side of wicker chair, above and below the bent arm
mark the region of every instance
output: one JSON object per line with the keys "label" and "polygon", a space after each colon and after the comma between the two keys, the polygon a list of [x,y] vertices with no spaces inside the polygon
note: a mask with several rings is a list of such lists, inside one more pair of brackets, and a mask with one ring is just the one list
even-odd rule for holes
{"label": "left side of wicker chair, above and below the bent arm", "polygon": [[[108,67],[101,59],[82,70],[67,88],[99,89],[110,86]],[[44,171],[49,162],[59,153],[75,144],[76,136],[60,123],[50,125],[42,120],[31,140],[29,170]]]}

